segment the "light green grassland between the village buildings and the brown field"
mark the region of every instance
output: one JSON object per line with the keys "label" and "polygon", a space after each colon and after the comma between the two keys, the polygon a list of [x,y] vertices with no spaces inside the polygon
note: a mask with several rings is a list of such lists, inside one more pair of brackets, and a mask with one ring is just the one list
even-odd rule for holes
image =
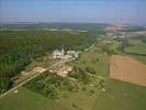
{"label": "light green grassland between the village buildings and the brown field", "polygon": [[99,47],[93,47],[89,52],[80,55],[78,61],[69,63],[71,66],[81,68],[91,67],[96,70],[97,75],[102,77],[109,76],[109,57],[108,54],[102,52]]}

